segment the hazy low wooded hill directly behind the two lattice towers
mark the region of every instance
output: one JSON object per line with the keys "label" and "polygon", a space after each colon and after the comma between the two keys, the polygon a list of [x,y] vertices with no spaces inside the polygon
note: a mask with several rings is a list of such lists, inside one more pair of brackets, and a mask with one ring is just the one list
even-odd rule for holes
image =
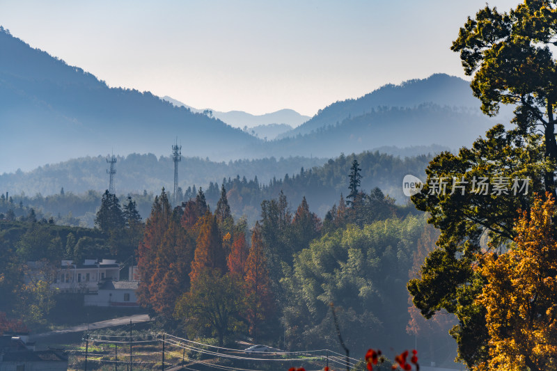
{"label": "hazy low wooded hill directly behind the two lattice towers", "polygon": [[[168,154],[170,145],[168,145]],[[12,194],[24,192],[28,196],[48,196],[66,192],[81,194],[90,189],[104,191],[109,186],[107,157],[81,157],[58,164],[39,166],[33,171],[4,173],[0,175],[0,191]],[[170,156],[158,157],[152,153],[116,156],[115,188],[118,194],[158,192],[162,187],[173,189],[174,163]],[[286,157],[235,160],[228,162],[210,161],[201,157],[183,157],[178,164],[178,181],[182,189],[194,184],[207,187],[209,182],[223,177],[242,175],[249,179],[258,177],[267,183],[275,175],[298,172],[301,167],[312,168],[324,164],[327,159],[308,157]]]}

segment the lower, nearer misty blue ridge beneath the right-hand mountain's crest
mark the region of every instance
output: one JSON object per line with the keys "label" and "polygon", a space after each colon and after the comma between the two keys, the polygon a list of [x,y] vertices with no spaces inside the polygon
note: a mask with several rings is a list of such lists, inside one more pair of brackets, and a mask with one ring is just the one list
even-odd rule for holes
{"label": "lower, nearer misty blue ridge beneath the right-hand mountain's crest", "polygon": [[[266,143],[278,151],[290,150],[325,157],[330,152],[372,150],[382,146],[409,148],[427,144],[442,144],[457,150],[478,138],[494,125],[494,121],[473,109],[455,109],[437,104],[421,104],[411,108],[375,107],[360,116],[349,116],[339,123],[293,138]],[[423,152],[424,153],[424,152]],[[425,152],[427,153],[427,152]]]}

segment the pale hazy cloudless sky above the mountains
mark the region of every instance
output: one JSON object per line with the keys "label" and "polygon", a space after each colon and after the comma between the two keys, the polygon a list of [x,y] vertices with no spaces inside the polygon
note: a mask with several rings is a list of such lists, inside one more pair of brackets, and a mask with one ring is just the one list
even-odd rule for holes
{"label": "pale hazy cloudless sky above the mountains", "polygon": [[199,109],[313,116],[384,84],[464,77],[449,47],[485,3],[0,0],[0,25],[109,86]]}

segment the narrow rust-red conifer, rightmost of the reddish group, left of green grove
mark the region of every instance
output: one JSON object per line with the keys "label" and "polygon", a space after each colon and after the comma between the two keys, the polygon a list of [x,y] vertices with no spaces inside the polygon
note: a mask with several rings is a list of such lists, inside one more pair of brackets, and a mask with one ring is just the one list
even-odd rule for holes
{"label": "narrow rust-red conifer, rightmost of the reddish group, left of green grove", "polygon": [[273,309],[271,281],[259,223],[253,228],[251,248],[246,260],[246,304],[249,332],[257,337],[258,326]]}

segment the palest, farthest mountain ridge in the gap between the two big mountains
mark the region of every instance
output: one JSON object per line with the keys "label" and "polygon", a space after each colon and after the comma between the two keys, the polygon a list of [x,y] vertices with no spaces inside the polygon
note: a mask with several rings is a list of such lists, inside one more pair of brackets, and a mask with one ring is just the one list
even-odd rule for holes
{"label": "palest, farthest mountain ridge in the gap between the two big mountains", "polygon": [[[191,111],[197,113],[203,113],[203,111],[205,111],[205,109],[195,109],[192,106],[188,106],[187,104],[182,103],[179,100],[168,97],[168,95],[165,95],[164,97],[162,97],[162,99],[171,102],[178,107],[185,106]],[[278,111],[265,113],[263,115],[252,115],[251,113],[247,113],[244,111],[220,112],[214,111],[212,109],[208,110],[212,111],[212,115],[219,120],[222,120],[230,126],[239,127],[240,129],[243,129],[244,127],[248,127],[251,129],[252,127],[271,124],[286,124],[290,125],[291,127],[297,127],[311,118],[309,116],[301,115],[293,109],[280,109]]]}

